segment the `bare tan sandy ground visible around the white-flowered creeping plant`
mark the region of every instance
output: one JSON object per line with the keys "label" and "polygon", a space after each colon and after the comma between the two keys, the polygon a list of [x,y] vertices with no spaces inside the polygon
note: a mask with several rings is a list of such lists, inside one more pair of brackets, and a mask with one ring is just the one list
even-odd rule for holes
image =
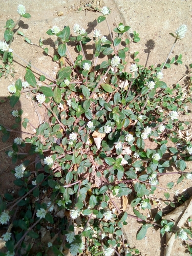
{"label": "bare tan sandy ground visible around the white-flowered creeping plant", "polygon": [[[98,17],[97,12],[92,11],[82,11],[77,13],[76,10],[80,7],[80,2],[83,1],[11,1],[6,0],[0,3],[0,34],[3,38],[4,26],[7,19],[12,18],[14,21],[18,18],[16,13],[17,5],[25,5],[27,11],[31,14],[30,19],[22,19],[19,23],[19,31],[25,33],[26,37],[31,39],[34,44],[38,45],[38,40],[41,38],[44,42],[45,47],[49,48],[51,55],[54,54],[54,39],[46,34],[46,31],[51,27],[59,26],[72,26],[75,23],[80,24],[85,28],[88,33],[93,34],[94,29],[101,30],[101,33],[108,36],[105,26],[102,23],[97,25],[96,19]],[[84,1],[86,2],[86,1]],[[90,1],[87,1],[90,2]],[[186,24],[188,26],[188,32],[186,37],[179,41],[172,52],[172,56],[183,55],[183,65],[175,66],[172,69],[164,70],[164,81],[168,86],[172,86],[177,83],[184,75],[188,73],[188,65],[192,62],[191,52],[191,9],[192,3],[190,0],[106,0],[97,1],[98,4],[106,5],[111,8],[111,16],[109,18],[110,27],[113,28],[114,25],[118,25],[119,22],[123,22],[126,25],[131,26],[131,30],[127,34],[130,37],[130,33],[137,31],[141,38],[138,44],[132,44],[131,52],[139,51],[138,57],[140,58],[140,63],[142,65],[158,65],[162,63],[169,52],[170,47],[174,42],[174,38],[169,35],[169,32],[175,32],[177,27],[181,24]],[[99,6],[100,7],[100,6]],[[63,15],[57,16],[58,12],[63,12]],[[36,46],[31,46],[24,41],[24,37],[21,37],[15,33],[14,41],[12,43],[12,48],[14,52],[20,57],[30,61],[34,66],[40,70],[46,72],[48,75],[54,77],[55,72],[58,70],[58,66],[55,62],[52,62],[50,57],[42,54],[43,50]],[[87,51],[87,58],[91,57],[92,49]],[[75,57],[74,54],[72,54]],[[132,59],[128,60],[129,63]],[[20,61],[17,57],[14,58],[13,68],[16,71],[15,78],[11,76],[8,78],[2,77],[0,79],[0,96],[1,99],[6,100],[6,103],[0,105],[0,120],[3,124],[11,126],[13,124],[13,118],[10,117],[10,112],[12,111],[9,106],[9,101],[7,96],[9,95],[7,87],[13,80],[18,78],[23,79],[25,75],[26,63]],[[36,77],[41,75],[38,71],[35,71]],[[186,79],[183,79],[180,84],[183,86],[186,84]],[[31,101],[30,95],[22,95],[19,102],[15,106],[15,109],[23,109],[23,118],[27,117],[33,126],[39,124],[37,113],[35,111],[34,105]],[[44,120],[44,109],[38,108],[38,112]],[[9,118],[7,118],[9,117]],[[182,121],[191,121],[191,116],[182,117]],[[27,130],[22,126],[20,130],[33,133],[33,127],[28,125]],[[11,138],[6,143],[0,143],[0,194],[4,194],[7,191],[16,190],[13,184],[14,177],[11,174],[11,169],[14,167],[11,160],[5,156],[5,151],[11,149],[12,140],[15,137],[20,137],[19,134],[12,134]],[[26,135],[22,135],[26,137]],[[149,144],[148,147],[153,145]],[[6,148],[4,150],[4,148]],[[191,170],[191,164],[188,163],[187,169]],[[173,169],[168,169],[167,171],[173,171]],[[177,184],[177,178],[172,175],[162,176],[159,179],[159,186],[166,188],[167,182],[175,182],[174,190],[179,189],[180,193],[187,193],[187,197],[191,196],[191,182],[183,181],[179,185]],[[155,193],[155,197],[159,199],[164,199],[164,191],[158,190]],[[174,198],[174,194],[171,194],[171,198]],[[130,202],[130,198],[128,199]],[[154,208],[157,209],[155,206]],[[159,209],[163,210],[163,214],[170,211],[169,208],[160,201],[158,205]],[[127,212],[133,214],[131,206],[128,206]],[[155,212],[155,210],[154,210]],[[153,215],[154,217],[154,215]],[[136,232],[140,228],[141,224],[135,219],[129,218],[127,220],[127,226],[124,228],[126,233],[126,239],[130,243],[131,247],[138,248],[141,255],[153,256],[153,255],[163,255],[165,247],[165,239],[160,236],[159,229],[150,228],[147,231],[146,237],[141,240],[136,240]],[[172,252],[173,256],[189,255],[186,251],[186,246],[182,244],[180,240],[177,240],[174,244],[174,250]]]}

